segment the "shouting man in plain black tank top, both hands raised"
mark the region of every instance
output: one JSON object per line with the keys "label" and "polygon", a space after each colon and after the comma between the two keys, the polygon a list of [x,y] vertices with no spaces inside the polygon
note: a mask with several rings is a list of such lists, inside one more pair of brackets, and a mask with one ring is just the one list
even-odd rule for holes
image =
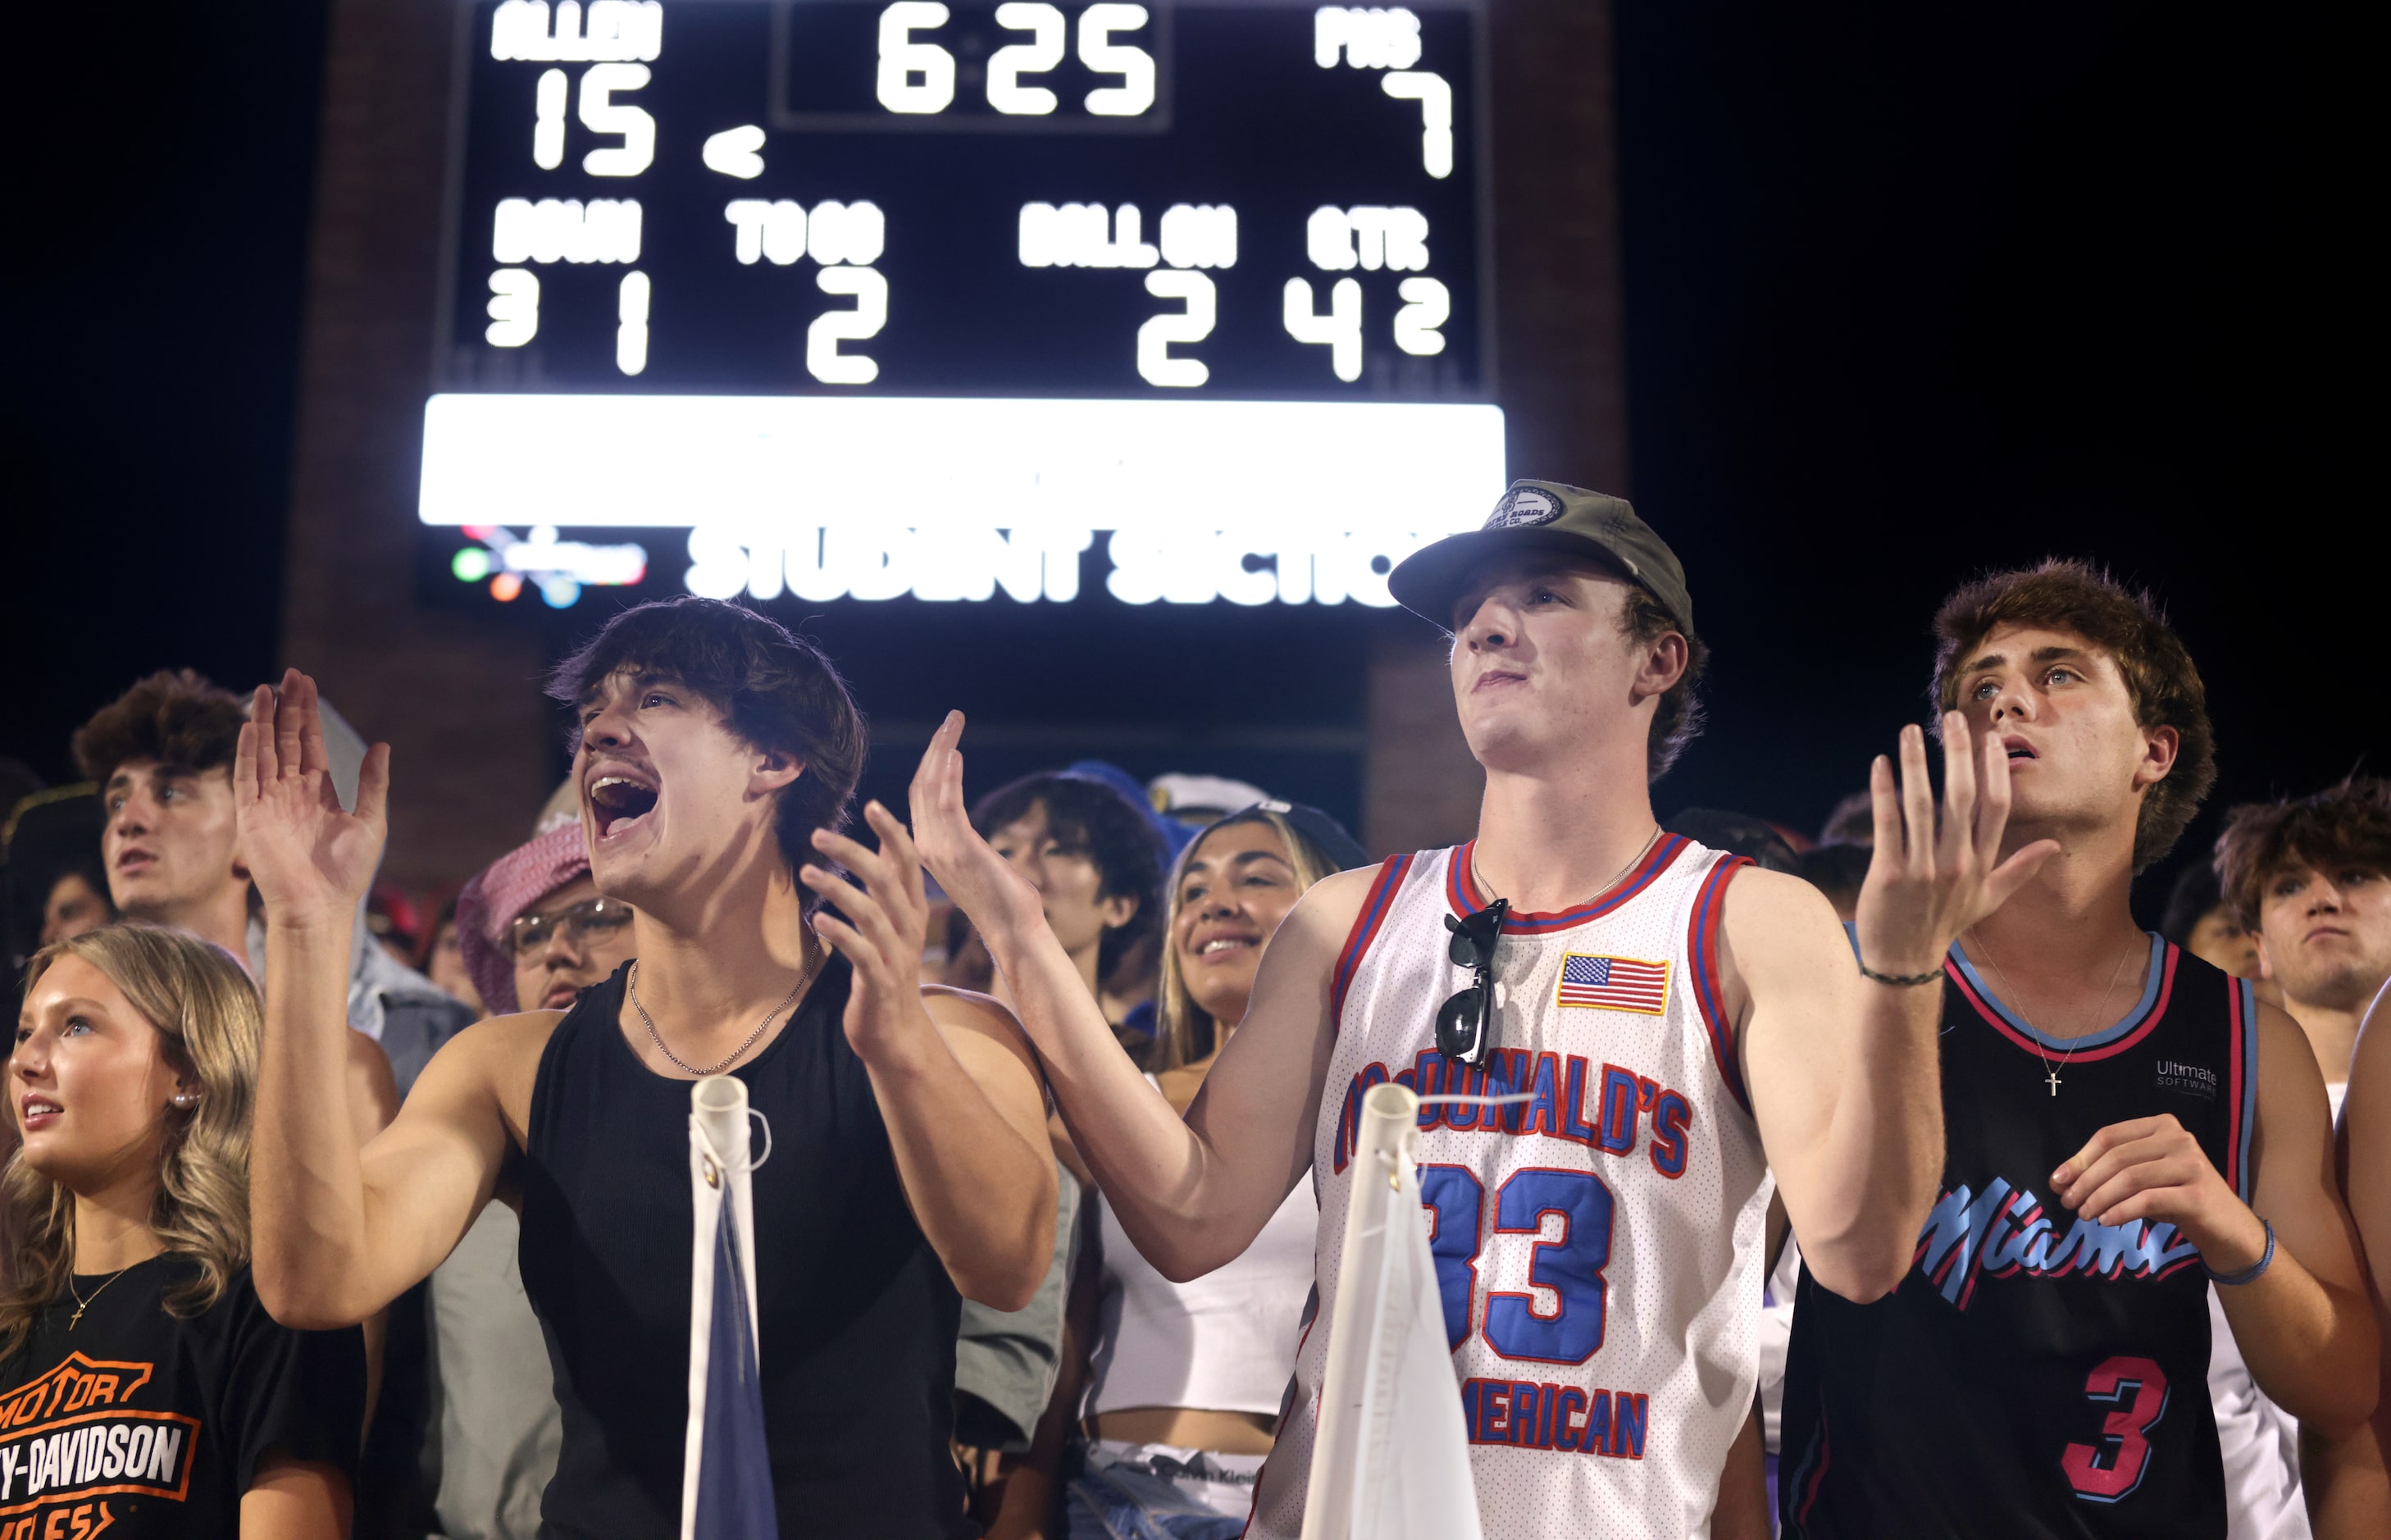
{"label": "shouting man in plain black tank top, both hands raised", "polygon": [[634,906],[636,961],[567,1012],[461,1031],[361,1153],[325,1093],[390,751],[342,811],[313,682],[251,703],[234,801],[268,923],[258,1296],[285,1325],[361,1320],[509,1203],[564,1413],[543,1533],[674,1533],[689,1086],[734,1074],[775,1148],[753,1263],[779,1533],[964,1540],[959,1296],[1016,1310],[1054,1248],[1028,1045],[995,1002],[918,983],[928,904],[904,825],[870,803],[877,851],[837,832],[863,720],[815,648],[715,600],[641,605],[552,691],[574,708],[591,875]]}

